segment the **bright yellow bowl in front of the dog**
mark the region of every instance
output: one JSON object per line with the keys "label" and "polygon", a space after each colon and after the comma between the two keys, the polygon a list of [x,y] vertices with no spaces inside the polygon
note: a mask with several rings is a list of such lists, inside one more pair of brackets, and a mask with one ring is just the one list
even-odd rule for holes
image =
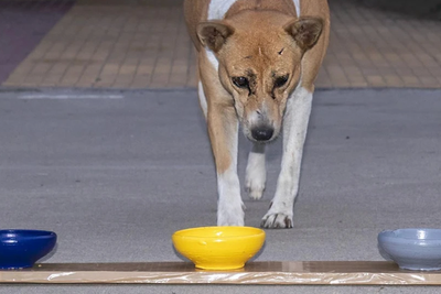
{"label": "bright yellow bowl in front of the dog", "polygon": [[234,270],[244,268],[263,246],[265,231],[251,227],[201,227],[173,233],[174,248],[196,268]]}

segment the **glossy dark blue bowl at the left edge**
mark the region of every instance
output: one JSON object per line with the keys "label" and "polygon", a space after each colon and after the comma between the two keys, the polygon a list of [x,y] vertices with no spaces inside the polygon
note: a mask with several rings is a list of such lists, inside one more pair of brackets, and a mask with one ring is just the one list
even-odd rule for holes
{"label": "glossy dark blue bowl at the left edge", "polygon": [[0,269],[31,268],[51,252],[56,233],[41,230],[0,230]]}

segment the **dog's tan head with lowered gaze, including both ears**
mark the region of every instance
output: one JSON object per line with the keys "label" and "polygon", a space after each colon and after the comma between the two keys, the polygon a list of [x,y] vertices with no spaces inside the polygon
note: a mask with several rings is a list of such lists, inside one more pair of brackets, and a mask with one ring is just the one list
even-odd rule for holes
{"label": "dog's tan head with lowered gaze, including both ears", "polygon": [[216,55],[220,83],[251,141],[268,142],[279,134],[302,56],[318,42],[322,26],[319,18],[257,11],[198,24],[198,39]]}

